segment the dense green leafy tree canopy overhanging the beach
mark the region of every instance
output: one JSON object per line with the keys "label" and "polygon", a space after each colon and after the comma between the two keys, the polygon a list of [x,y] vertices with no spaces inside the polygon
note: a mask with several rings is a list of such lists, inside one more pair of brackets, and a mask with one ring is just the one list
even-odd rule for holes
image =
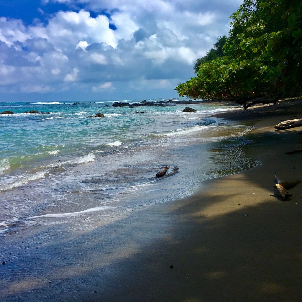
{"label": "dense green leafy tree canopy overhanging the beach", "polygon": [[244,0],[230,18],[229,37],[197,60],[197,76],[179,83],[179,96],[233,100],[246,109],[301,95],[302,2]]}

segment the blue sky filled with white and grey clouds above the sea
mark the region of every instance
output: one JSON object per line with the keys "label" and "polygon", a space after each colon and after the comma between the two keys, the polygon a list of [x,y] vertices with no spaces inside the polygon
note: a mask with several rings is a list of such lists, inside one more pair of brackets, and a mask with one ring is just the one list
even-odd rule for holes
{"label": "blue sky filled with white and grey clouds above the sea", "polygon": [[178,97],[243,0],[0,0],[0,101]]}

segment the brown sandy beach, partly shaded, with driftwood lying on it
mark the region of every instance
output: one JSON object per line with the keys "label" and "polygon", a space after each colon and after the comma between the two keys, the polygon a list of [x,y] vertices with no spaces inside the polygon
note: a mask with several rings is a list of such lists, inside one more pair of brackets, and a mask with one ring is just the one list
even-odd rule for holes
{"label": "brown sandy beach, partly shaded, with driftwood lying on it", "polygon": [[137,204],[80,232],[54,224],[9,245],[2,237],[0,300],[301,301],[302,185],[285,202],[273,188],[274,174],[302,180],[302,153],[285,154],[301,149],[302,127],[274,128],[301,113],[300,100],[287,100],[216,114],[253,127],[243,150],[261,165],[205,179],[188,197]]}

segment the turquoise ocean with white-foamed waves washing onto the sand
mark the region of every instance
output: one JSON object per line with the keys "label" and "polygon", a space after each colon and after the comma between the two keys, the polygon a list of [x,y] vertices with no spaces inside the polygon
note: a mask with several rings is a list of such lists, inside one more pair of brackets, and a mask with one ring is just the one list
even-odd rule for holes
{"label": "turquoise ocean with white-foamed waves washing onto the sand", "polygon": [[[0,236],[62,224],[88,231],[259,165],[244,153],[253,128],[211,117],[238,106],[148,101],[168,106],[0,103],[0,112],[14,112],[0,115]],[[187,106],[197,111],[182,112]],[[40,113],[24,113],[32,110]],[[104,117],[89,117],[97,113]],[[161,166],[178,169],[157,178]]]}

